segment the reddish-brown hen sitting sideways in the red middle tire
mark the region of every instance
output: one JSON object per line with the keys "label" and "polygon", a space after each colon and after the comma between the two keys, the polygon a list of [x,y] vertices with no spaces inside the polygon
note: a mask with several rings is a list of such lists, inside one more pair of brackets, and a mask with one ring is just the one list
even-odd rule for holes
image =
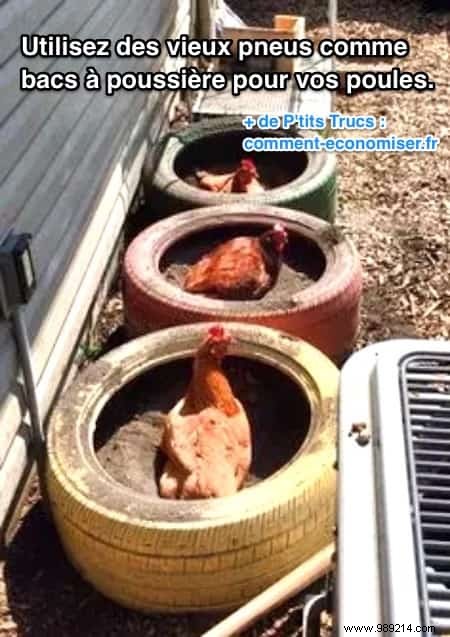
{"label": "reddish-brown hen sitting sideways in the red middle tire", "polygon": [[259,299],[276,283],[288,240],[281,224],[259,237],[236,237],[190,266],[183,288],[225,300]]}

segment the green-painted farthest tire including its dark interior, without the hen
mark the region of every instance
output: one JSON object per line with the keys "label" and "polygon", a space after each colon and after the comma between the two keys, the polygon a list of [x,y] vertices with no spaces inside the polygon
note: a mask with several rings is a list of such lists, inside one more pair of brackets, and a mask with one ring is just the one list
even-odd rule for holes
{"label": "green-painted farthest tire including its dark interior, without the hen", "polygon": [[[237,117],[206,120],[169,133],[144,169],[151,214],[160,219],[176,212],[224,203],[253,203],[303,210],[333,221],[336,213],[336,157],[326,152],[245,153],[245,137],[292,137],[291,130],[246,130]],[[244,157],[256,163],[266,190],[261,193],[211,192],[198,187],[198,170],[234,170]]]}

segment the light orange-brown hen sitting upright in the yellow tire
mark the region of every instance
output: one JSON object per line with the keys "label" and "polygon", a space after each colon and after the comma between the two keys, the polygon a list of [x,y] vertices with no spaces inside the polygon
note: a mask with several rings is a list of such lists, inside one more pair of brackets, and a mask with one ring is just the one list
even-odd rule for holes
{"label": "light orange-brown hen sitting upright in the yellow tire", "polygon": [[251,463],[250,425],[221,361],[230,337],[211,328],[194,359],[186,397],[169,413],[162,441],[167,461],[163,498],[214,498],[236,493]]}

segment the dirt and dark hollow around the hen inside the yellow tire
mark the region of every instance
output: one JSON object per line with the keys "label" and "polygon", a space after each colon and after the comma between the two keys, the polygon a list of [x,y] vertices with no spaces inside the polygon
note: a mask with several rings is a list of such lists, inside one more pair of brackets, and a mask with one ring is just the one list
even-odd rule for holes
{"label": "dirt and dark hollow around the hen inside the yellow tire", "polygon": [[[123,387],[104,407],[94,447],[100,464],[117,482],[159,497],[164,456],[156,412],[167,413],[185,394],[191,368],[191,359],[156,367]],[[253,462],[245,488],[281,469],[301,448],[310,405],[294,381],[269,365],[228,357],[224,368],[252,428]]]}

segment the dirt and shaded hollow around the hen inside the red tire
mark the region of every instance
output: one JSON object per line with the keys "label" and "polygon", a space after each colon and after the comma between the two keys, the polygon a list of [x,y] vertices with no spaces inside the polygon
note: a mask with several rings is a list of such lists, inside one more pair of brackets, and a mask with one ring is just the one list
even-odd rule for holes
{"label": "dirt and shaded hollow around the hen inside the red tire", "polygon": [[[169,283],[182,288],[188,266],[197,262],[203,255],[224,241],[237,236],[256,237],[265,230],[267,226],[230,225],[189,234],[165,252],[159,264],[160,272]],[[258,300],[261,309],[289,309],[292,307],[293,296],[318,281],[325,267],[325,255],[319,246],[306,237],[291,232],[278,279]]]}

